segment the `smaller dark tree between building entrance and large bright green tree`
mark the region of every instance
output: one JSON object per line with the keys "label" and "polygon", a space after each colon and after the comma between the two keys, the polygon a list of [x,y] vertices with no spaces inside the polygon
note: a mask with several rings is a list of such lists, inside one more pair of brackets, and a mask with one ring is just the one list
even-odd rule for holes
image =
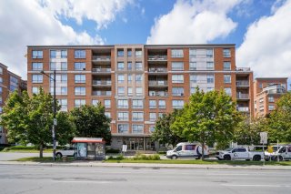
{"label": "smaller dark tree between building entrance and large bright green tree", "polygon": [[170,126],[174,123],[176,116],[179,115],[179,110],[175,109],[172,113],[164,114],[156,121],[155,131],[152,134],[152,139],[162,144],[170,144],[175,146],[178,142],[185,141],[186,138],[178,136],[176,131]]}

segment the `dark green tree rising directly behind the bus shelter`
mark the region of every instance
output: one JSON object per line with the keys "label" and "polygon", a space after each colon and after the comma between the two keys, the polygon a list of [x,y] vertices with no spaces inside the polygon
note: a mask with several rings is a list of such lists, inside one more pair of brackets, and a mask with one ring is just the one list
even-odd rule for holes
{"label": "dark green tree rising directly behind the bus shelter", "polygon": [[105,138],[111,142],[109,129],[111,119],[105,116],[105,107],[100,103],[97,106],[75,107],[71,111],[71,117],[75,123],[76,135],[85,138]]}

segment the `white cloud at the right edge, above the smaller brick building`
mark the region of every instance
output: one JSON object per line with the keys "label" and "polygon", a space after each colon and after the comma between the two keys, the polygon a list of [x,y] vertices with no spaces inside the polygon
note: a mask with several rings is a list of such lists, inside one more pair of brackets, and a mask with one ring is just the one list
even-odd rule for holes
{"label": "white cloud at the right edge, above the smaller brick building", "polygon": [[290,77],[290,10],[291,0],[248,27],[236,52],[236,66],[250,66],[256,77]]}

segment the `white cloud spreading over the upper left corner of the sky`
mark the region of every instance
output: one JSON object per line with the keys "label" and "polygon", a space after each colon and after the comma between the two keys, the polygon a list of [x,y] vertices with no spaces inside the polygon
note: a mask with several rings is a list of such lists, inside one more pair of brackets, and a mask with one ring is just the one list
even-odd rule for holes
{"label": "white cloud spreading over the upper left corner of the sky", "polygon": [[73,17],[80,23],[84,18],[93,19],[98,26],[107,26],[125,6],[124,2],[128,1],[0,1],[0,63],[26,78],[28,45],[102,45],[105,39],[76,32],[62,24],[60,17]]}

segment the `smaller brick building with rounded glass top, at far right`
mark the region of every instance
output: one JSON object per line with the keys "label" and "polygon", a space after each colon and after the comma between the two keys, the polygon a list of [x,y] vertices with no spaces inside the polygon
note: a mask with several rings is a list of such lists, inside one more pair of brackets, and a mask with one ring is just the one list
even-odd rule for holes
{"label": "smaller brick building with rounded glass top, at far right", "polygon": [[287,77],[257,77],[254,82],[255,117],[265,117],[287,91]]}

